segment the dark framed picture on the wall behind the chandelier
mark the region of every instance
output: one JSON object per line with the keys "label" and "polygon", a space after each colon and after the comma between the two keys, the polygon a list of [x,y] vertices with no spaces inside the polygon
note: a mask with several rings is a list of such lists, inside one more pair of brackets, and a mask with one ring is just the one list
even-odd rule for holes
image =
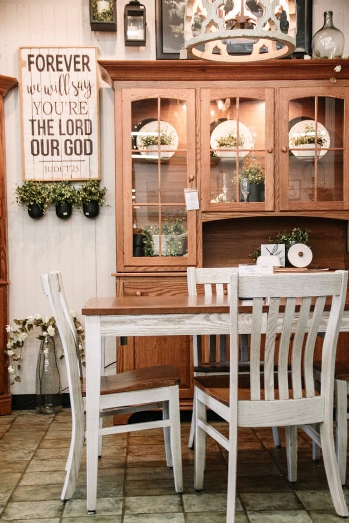
{"label": "dark framed picture on the wall behind the chandelier", "polygon": [[[183,0],[155,0],[156,19],[156,59],[178,60],[179,51],[184,44],[184,14]],[[261,8],[256,0],[247,0],[251,11],[258,17],[262,15]],[[297,37],[296,50],[292,53],[295,58],[311,55],[312,36],[312,0],[297,0]],[[249,54],[249,44],[235,44],[229,50],[232,54]],[[251,45],[251,44],[250,44]],[[290,57],[289,57],[290,58]]]}

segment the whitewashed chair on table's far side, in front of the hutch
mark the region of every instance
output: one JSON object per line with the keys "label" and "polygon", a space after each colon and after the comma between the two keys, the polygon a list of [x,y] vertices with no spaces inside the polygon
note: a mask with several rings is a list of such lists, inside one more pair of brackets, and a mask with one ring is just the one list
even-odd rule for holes
{"label": "whitewashed chair on table's far side, in front of the hutch", "polygon": [[[239,267],[188,267],[187,268],[187,285],[189,296],[196,296],[198,286],[204,287],[204,293],[207,296],[212,294],[223,295],[229,292],[230,275],[232,272],[239,272]],[[229,360],[227,357],[227,336],[219,336],[217,347],[217,336],[210,335],[208,340],[208,359],[205,360],[202,355],[201,337],[193,336],[193,364],[194,376],[206,376],[207,374],[228,374]],[[247,336],[240,337],[240,361],[239,372],[249,373],[249,355],[247,352]],[[190,434],[188,447],[192,448],[195,434],[195,404],[193,405],[192,423],[190,425]],[[280,445],[277,427],[273,427],[274,443]]]}

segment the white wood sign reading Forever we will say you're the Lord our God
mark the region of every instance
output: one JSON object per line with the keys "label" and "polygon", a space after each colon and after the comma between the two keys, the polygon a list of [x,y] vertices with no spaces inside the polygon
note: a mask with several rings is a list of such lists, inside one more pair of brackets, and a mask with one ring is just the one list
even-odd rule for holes
{"label": "white wood sign reading Forever we will say you're the Lord our God", "polygon": [[25,180],[99,179],[97,48],[21,47]]}

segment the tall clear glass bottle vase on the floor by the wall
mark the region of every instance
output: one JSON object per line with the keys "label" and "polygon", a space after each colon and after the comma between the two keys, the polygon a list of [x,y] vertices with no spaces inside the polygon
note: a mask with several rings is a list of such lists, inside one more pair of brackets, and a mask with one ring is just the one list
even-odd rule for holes
{"label": "tall clear glass bottle vase on the floor by the wall", "polygon": [[62,408],[62,388],[58,357],[51,336],[41,340],[36,368],[36,408],[42,414],[54,414]]}

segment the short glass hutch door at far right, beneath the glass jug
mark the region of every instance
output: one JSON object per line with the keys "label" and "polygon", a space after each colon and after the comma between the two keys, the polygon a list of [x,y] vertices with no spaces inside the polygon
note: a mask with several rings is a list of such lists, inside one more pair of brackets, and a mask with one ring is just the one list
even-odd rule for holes
{"label": "short glass hutch door at far right, beneath the glass jug", "polygon": [[[323,90],[323,89],[322,89]],[[348,208],[344,129],[347,88],[280,89],[280,209]],[[286,121],[287,118],[287,121]]]}

